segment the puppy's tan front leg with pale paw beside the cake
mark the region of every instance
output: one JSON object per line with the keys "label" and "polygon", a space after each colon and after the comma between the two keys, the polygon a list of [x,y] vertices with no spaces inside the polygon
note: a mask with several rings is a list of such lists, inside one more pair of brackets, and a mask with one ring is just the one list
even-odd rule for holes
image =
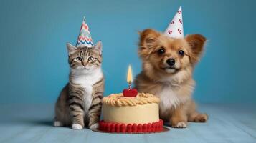
{"label": "puppy's tan front leg with pale paw beside the cake", "polygon": [[186,110],[183,108],[183,105],[176,107],[171,116],[170,122],[171,127],[175,128],[185,128],[187,124],[187,115]]}

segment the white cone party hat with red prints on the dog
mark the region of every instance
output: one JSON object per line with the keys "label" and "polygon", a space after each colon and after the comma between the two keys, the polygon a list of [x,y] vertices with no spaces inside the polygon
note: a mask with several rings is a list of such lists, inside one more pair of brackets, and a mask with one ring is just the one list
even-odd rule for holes
{"label": "white cone party hat with red prints on the dog", "polygon": [[174,19],[169,23],[164,34],[172,38],[183,38],[183,21],[182,21],[182,9],[181,6],[174,16]]}

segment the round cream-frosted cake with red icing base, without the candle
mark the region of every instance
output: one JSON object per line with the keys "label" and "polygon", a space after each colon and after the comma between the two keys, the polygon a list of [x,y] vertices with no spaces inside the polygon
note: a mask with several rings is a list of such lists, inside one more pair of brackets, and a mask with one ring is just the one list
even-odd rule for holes
{"label": "round cream-frosted cake with red icing base, without the candle", "polygon": [[138,93],[124,97],[122,93],[103,98],[103,120],[100,131],[120,133],[161,132],[160,99],[153,94]]}

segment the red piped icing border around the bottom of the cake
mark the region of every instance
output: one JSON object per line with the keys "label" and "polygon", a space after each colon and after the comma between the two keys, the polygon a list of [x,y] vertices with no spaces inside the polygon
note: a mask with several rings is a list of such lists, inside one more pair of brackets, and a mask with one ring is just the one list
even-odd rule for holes
{"label": "red piped icing border around the bottom of the cake", "polygon": [[120,124],[101,120],[100,131],[123,133],[161,132],[163,131],[163,120],[160,119],[158,122],[148,124]]}

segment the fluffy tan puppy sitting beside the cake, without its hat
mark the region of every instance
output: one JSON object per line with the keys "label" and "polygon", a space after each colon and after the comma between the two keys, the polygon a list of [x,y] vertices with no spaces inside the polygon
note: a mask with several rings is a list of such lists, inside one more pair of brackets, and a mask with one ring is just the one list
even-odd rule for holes
{"label": "fluffy tan puppy sitting beside the cake, without its hat", "polygon": [[[195,86],[192,74],[204,49],[204,36],[193,34],[174,39],[153,29],[142,31],[140,36],[138,54],[143,71],[136,77],[138,91],[155,94],[161,99],[160,117],[170,122],[171,127],[183,128],[187,122],[207,122],[207,114],[196,112],[191,98]],[[180,50],[184,54],[179,53]],[[174,59],[174,66],[169,66],[167,59]]]}

